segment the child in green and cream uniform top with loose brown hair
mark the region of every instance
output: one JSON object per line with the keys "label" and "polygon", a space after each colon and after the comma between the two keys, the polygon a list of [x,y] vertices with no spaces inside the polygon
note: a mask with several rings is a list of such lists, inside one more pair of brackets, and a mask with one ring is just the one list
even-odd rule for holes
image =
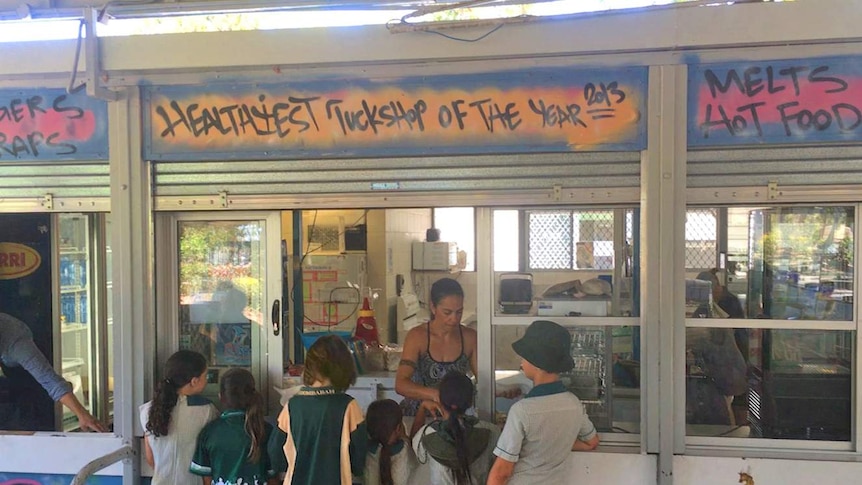
{"label": "child in green and cream uniform top with loose brown hair", "polygon": [[[341,338],[318,339],[305,357],[305,384],[284,405],[269,442],[284,485],[350,485],[365,467],[368,434],[359,404],[345,393],[356,368]],[[281,456],[276,457],[279,449]]]}

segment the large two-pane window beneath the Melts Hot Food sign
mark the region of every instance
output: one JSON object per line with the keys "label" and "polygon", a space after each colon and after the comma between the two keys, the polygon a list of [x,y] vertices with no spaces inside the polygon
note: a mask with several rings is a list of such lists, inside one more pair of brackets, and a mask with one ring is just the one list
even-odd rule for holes
{"label": "large two-pane window beneath the Melts Hot Food sign", "polygon": [[687,443],[850,449],[857,211],[689,208],[714,249],[686,248]]}

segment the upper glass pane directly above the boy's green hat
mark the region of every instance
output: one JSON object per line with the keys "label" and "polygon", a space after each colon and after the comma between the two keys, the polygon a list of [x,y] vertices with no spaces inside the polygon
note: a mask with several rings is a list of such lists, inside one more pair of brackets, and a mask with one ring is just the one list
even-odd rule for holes
{"label": "upper glass pane directly above the boy's green hat", "polygon": [[[514,252],[518,241],[529,244],[528,271],[514,272],[514,256],[506,267],[495,262],[496,315],[637,315],[636,213],[631,208],[495,210],[495,258],[498,248]],[[516,234],[511,228],[521,215],[527,226]]]}

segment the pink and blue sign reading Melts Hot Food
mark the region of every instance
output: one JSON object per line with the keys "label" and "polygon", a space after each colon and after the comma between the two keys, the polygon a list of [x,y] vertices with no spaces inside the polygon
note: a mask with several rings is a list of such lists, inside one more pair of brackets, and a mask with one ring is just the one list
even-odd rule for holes
{"label": "pink and blue sign reading Melts Hot Food", "polygon": [[689,69],[689,146],[862,140],[862,58]]}

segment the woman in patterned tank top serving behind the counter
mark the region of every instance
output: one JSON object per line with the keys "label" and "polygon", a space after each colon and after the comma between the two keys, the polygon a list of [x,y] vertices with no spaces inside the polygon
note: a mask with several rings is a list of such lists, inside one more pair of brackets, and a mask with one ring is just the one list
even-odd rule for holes
{"label": "woman in patterned tank top serving behind the counter", "polygon": [[405,416],[415,416],[422,401],[429,401],[440,415],[443,377],[451,371],[476,375],[477,335],[461,325],[464,290],[452,278],[431,285],[431,321],[414,327],[404,339],[404,351],[395,377],[395,391],[404,396]]}

